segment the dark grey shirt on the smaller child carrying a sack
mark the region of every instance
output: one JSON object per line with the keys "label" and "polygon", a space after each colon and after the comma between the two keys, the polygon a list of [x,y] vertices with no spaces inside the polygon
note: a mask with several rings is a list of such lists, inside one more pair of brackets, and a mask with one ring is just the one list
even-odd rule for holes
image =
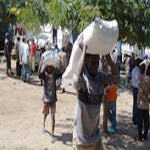
{"label": "dark grey shirt on the smaller child carrying a sack", "polygon": [[44,80],[43,88],[43,102],[53,103],[57,101],[56,96],[56,78],[58,77],[57,69],[54,69],[53,73],[48,74],[46,71],[41,73],[41,77]]}

